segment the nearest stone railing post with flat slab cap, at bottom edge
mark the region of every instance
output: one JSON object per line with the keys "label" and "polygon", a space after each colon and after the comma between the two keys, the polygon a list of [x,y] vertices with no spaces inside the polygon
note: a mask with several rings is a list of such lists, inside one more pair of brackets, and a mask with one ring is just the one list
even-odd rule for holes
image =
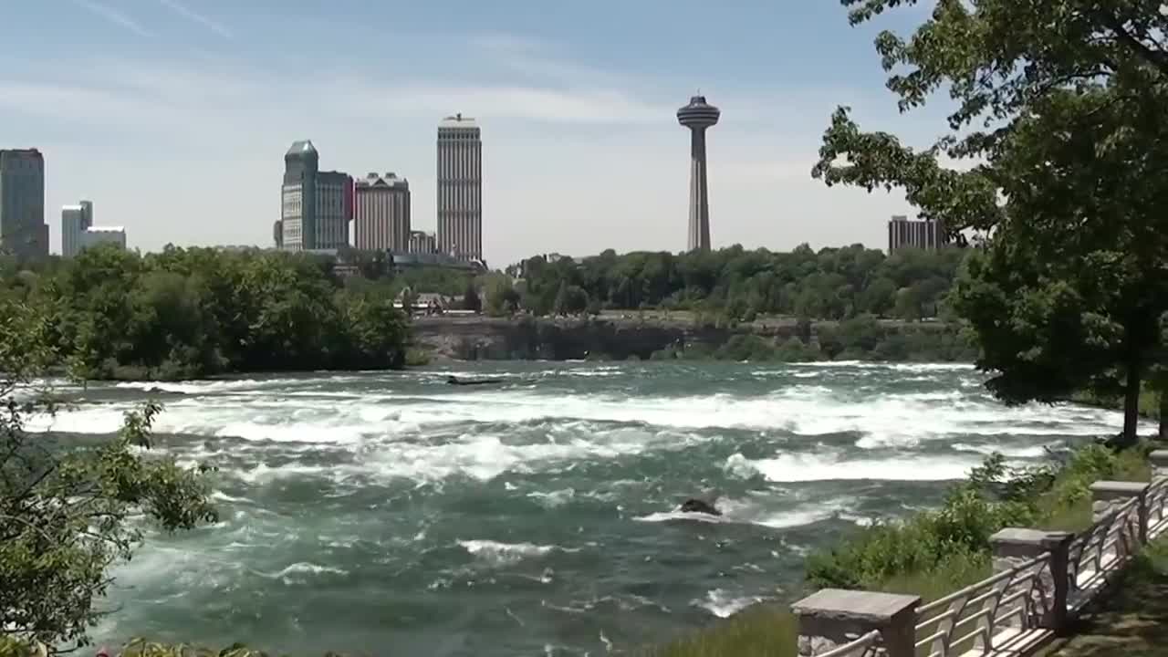
{"label": "nearest stone railing post with flat slab cap, at bottom edge", "polygon": [[799,616],[799,656],[822,655],[880,630],[888,657],[916,653],[916,595],[826,588],[791,606]]}

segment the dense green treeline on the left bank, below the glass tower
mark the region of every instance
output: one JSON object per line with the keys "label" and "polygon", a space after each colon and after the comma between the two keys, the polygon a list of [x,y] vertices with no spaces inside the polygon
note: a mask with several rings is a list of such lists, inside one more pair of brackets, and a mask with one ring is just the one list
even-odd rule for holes
{"label": "dense green treeline on the left bank, below the glass tower", "polygon": [[0,303],[35,309],[61,362],[91,379],[402,367],[408,324],[392,296],[332,269],[277,251],[95,247],[35,268],[6,261]]}

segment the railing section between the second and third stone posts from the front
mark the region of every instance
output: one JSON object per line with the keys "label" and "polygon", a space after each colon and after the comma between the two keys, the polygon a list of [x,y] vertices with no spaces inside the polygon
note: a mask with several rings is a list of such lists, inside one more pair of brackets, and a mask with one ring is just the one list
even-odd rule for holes
{"label": "railing section between the second and third stone posts from the front", "polygon": [[1068,548],[1068,606],[1080,609],[1140,548],[1140,500],[1113,509]]}

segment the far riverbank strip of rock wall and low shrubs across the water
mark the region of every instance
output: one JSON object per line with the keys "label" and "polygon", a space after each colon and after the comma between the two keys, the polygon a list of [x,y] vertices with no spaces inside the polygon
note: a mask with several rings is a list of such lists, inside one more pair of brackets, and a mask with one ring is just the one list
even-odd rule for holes
{"label": "far riverbank strip of rock wall and low shrubs across the water", "polygon": [[691,313],[609,312],[596,318],[419,317],[415,345],[436,360],[749,360],[751,362],[973,362],[955,324],[793,317],[714,324]]}

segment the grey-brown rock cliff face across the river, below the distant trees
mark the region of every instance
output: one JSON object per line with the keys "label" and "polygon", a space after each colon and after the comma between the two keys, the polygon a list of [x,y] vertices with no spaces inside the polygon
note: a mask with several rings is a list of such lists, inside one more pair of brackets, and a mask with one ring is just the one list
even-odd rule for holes
{"label": "grey-brown rock cliff face across the river, below the distant trees", "polygon": [[413,320],[413,339],[420,347],[436,358],[460,360],[573,360],[589,355],[617,360],[633,355],[648,359],[653,352],[670,346],[717,347],[739,333],[783,341],[797,336],[799,327],[793,320],[716,328],[667,319],[640,320],[637,317],[423,317]]}

